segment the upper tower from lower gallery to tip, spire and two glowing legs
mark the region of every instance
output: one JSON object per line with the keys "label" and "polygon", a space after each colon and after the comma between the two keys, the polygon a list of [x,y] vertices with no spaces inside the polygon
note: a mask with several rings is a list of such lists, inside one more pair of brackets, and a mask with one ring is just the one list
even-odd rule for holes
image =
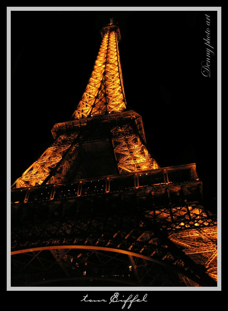
{"label": "upper tower from lower gallery to tip, spire and two glowing legs", "polygon": [[[117,171],[112,171],[112,174],[159,168],[145,147],[141,117],[133,111],[125,111],[126,100],[118,52],[119,28],[115,25],[108,25],[101,30],[101,34],[103,38],[95,66],[83,98],[73,114],[73,121],[54,126],[52,134],[55,142],[15,181],[13,187],[24,188],[65,182],[72,166],[75,167],[78,162],[80,163],[82,155],[78,151],[83,149],[84,141],[97,140],[97,137],[94,137],[95,134],[92,133],[94,129],[91,130],[89,139],[83,136],[82,130],[82,127],[89,128],[94,118],[95,120],[100,118],[100,123],[110,123],[116,119],[122,123],[123,116],[131,120],[126,125],[115,127],[110,125],[108,128],[110,134],[107,134],[106,140],[109,144],[111,139],[113,150],[107,156],[109,159],[115,159],[116,163],[113,165],[118,168]],[[83,121],[84,118],[86,121]],[[138,132],[133,130],[135,126]],[[97,154],[100,152],[98,146]],[[88,157],[85,166],[89,166],[89,155],[83,154],[83,156]],[[74,179],[77,179],[79,175],[75,173]],[[103,174],[100,173],[100,175]]]}

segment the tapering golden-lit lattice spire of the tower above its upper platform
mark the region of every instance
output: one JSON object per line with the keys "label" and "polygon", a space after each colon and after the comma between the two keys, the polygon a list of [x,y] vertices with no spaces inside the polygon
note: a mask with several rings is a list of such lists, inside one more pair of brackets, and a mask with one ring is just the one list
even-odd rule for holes
{"label": "tapering golden-lit lattice spire of the tower above its upper platform", "polygon": [[122,112],[126,109],[123,77],[120,66],[118,26],[110,24],[101,29],[101,46],[86,90],[73,119],[94,117],[101,114]]}

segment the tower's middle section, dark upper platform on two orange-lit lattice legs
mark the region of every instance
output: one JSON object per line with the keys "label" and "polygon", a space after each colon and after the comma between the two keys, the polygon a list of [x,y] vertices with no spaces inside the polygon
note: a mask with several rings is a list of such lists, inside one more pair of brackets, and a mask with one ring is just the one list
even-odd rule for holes
{"label": "tower's middle section, dark upper platform on two orange-lit lattice legs", "polygon": [[[85,168],[89,167],[89,160],[86,159],[90,158],[91,147],[87,146],[92,144],[98,158],[94,164],[97,170],[100,168],[102,171],[104,166],[101,162],[104,157],[101,144],[107,149],[106,162],[109,160],[117,168],[112,170],[114,174],[159,168],[145,146],[143,125],[138,114],[130,111],[108,118],[104,115],[87,118],[86,121],[85,124],[81,120],[56,124],[52,131],[54,142],[12,187],[30,188],[64,183],[69,179],[74,181],[78,172],[70,176],[70,171],[73,167],[79,170],[82,161]],[[121,126],[116,127],[114,124]]]}

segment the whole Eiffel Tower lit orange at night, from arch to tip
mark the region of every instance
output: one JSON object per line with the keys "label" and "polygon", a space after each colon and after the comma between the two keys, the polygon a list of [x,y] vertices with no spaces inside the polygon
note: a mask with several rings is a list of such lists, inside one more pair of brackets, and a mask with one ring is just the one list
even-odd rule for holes
{"label": "whole Eiffel Tower lit orange at night, from arch to tip", "polygon": [[71,119],[11,186],[11,286],[217,286],[217,216],[196,165],[154,159],[112,19],[101,37]]}

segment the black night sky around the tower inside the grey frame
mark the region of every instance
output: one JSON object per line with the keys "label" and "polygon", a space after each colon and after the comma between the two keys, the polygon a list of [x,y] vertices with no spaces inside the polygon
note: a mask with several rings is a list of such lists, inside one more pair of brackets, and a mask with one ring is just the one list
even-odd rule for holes
{"label": "black night sky around the tower inside the grey frame", "polygon": [[[217,11],[11,11],[11,183],[50,145],[54,124],[70,120],[110,18],[127,105],[141,114],[150,150],[161,167],[196,163],[215,209]],[[206,28],[210,77],[201,72]]]}

